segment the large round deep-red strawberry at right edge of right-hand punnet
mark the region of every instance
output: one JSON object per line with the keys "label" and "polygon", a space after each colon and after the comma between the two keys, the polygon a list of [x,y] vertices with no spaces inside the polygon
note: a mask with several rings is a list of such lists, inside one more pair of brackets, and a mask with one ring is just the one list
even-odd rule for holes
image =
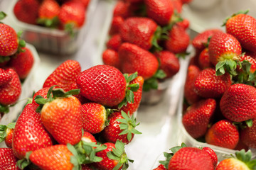
{"label": "large round deep-red strawberry at right edge of right-hand punnet", "polygon": [[233,84],[220,100],[221,113],[228,120],[242,122],[256,116],[256,89],[247,84]]}

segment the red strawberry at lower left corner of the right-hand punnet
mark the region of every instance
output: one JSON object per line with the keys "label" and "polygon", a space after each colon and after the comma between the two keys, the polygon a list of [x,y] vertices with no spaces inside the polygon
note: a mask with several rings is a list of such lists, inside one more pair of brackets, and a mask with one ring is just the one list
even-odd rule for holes
{"label": "red strawberry at lower left corner of the right-hand punnet", "polygon": [[216,108],[216,101],[212,98],[193,103],[183,115],[182,123],[186,131],[193,138],[202,137],[208,130],[210,118]]}

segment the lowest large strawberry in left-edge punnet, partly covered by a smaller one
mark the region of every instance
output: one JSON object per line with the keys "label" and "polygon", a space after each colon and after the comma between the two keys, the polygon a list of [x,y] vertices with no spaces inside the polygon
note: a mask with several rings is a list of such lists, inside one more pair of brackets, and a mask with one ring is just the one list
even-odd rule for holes
{"label": "lowest large strawberry in left-edge punnet, partly covered by a smaller one", "polygon": [[21,81],[14,69],[6,69],[6,72],[12,75],[9,83],[0,86],[0,103],[8,106],[16,103],[21,96]]}

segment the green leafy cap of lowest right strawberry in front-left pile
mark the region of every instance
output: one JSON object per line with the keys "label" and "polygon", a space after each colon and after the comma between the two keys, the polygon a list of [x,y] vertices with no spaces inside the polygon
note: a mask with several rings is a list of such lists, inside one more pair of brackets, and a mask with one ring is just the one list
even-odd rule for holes
{"label": "green leafy cap of lowest right strawberry in front-left pile", "polygon": [[128,162],[134,162],[133,160],[128,159],[127,154],[124,152],[124,143],[119,140],[115,143],[112,151],[107,152],[107,157],[112,160],[117,160],[118,162],[112,170],[118,170],[121,166],[123,170],[128,169]]}

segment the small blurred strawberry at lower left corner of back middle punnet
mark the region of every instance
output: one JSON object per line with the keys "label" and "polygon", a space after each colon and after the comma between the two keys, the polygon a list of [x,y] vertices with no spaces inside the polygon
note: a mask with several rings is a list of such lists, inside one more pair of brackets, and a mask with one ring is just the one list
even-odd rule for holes
{"label": "small blurred strawberry at lower left corner of back middle punnet", "polygon": [[120,69],[120,60],[117,51],[107,49],[102,53],[103,63]]}

